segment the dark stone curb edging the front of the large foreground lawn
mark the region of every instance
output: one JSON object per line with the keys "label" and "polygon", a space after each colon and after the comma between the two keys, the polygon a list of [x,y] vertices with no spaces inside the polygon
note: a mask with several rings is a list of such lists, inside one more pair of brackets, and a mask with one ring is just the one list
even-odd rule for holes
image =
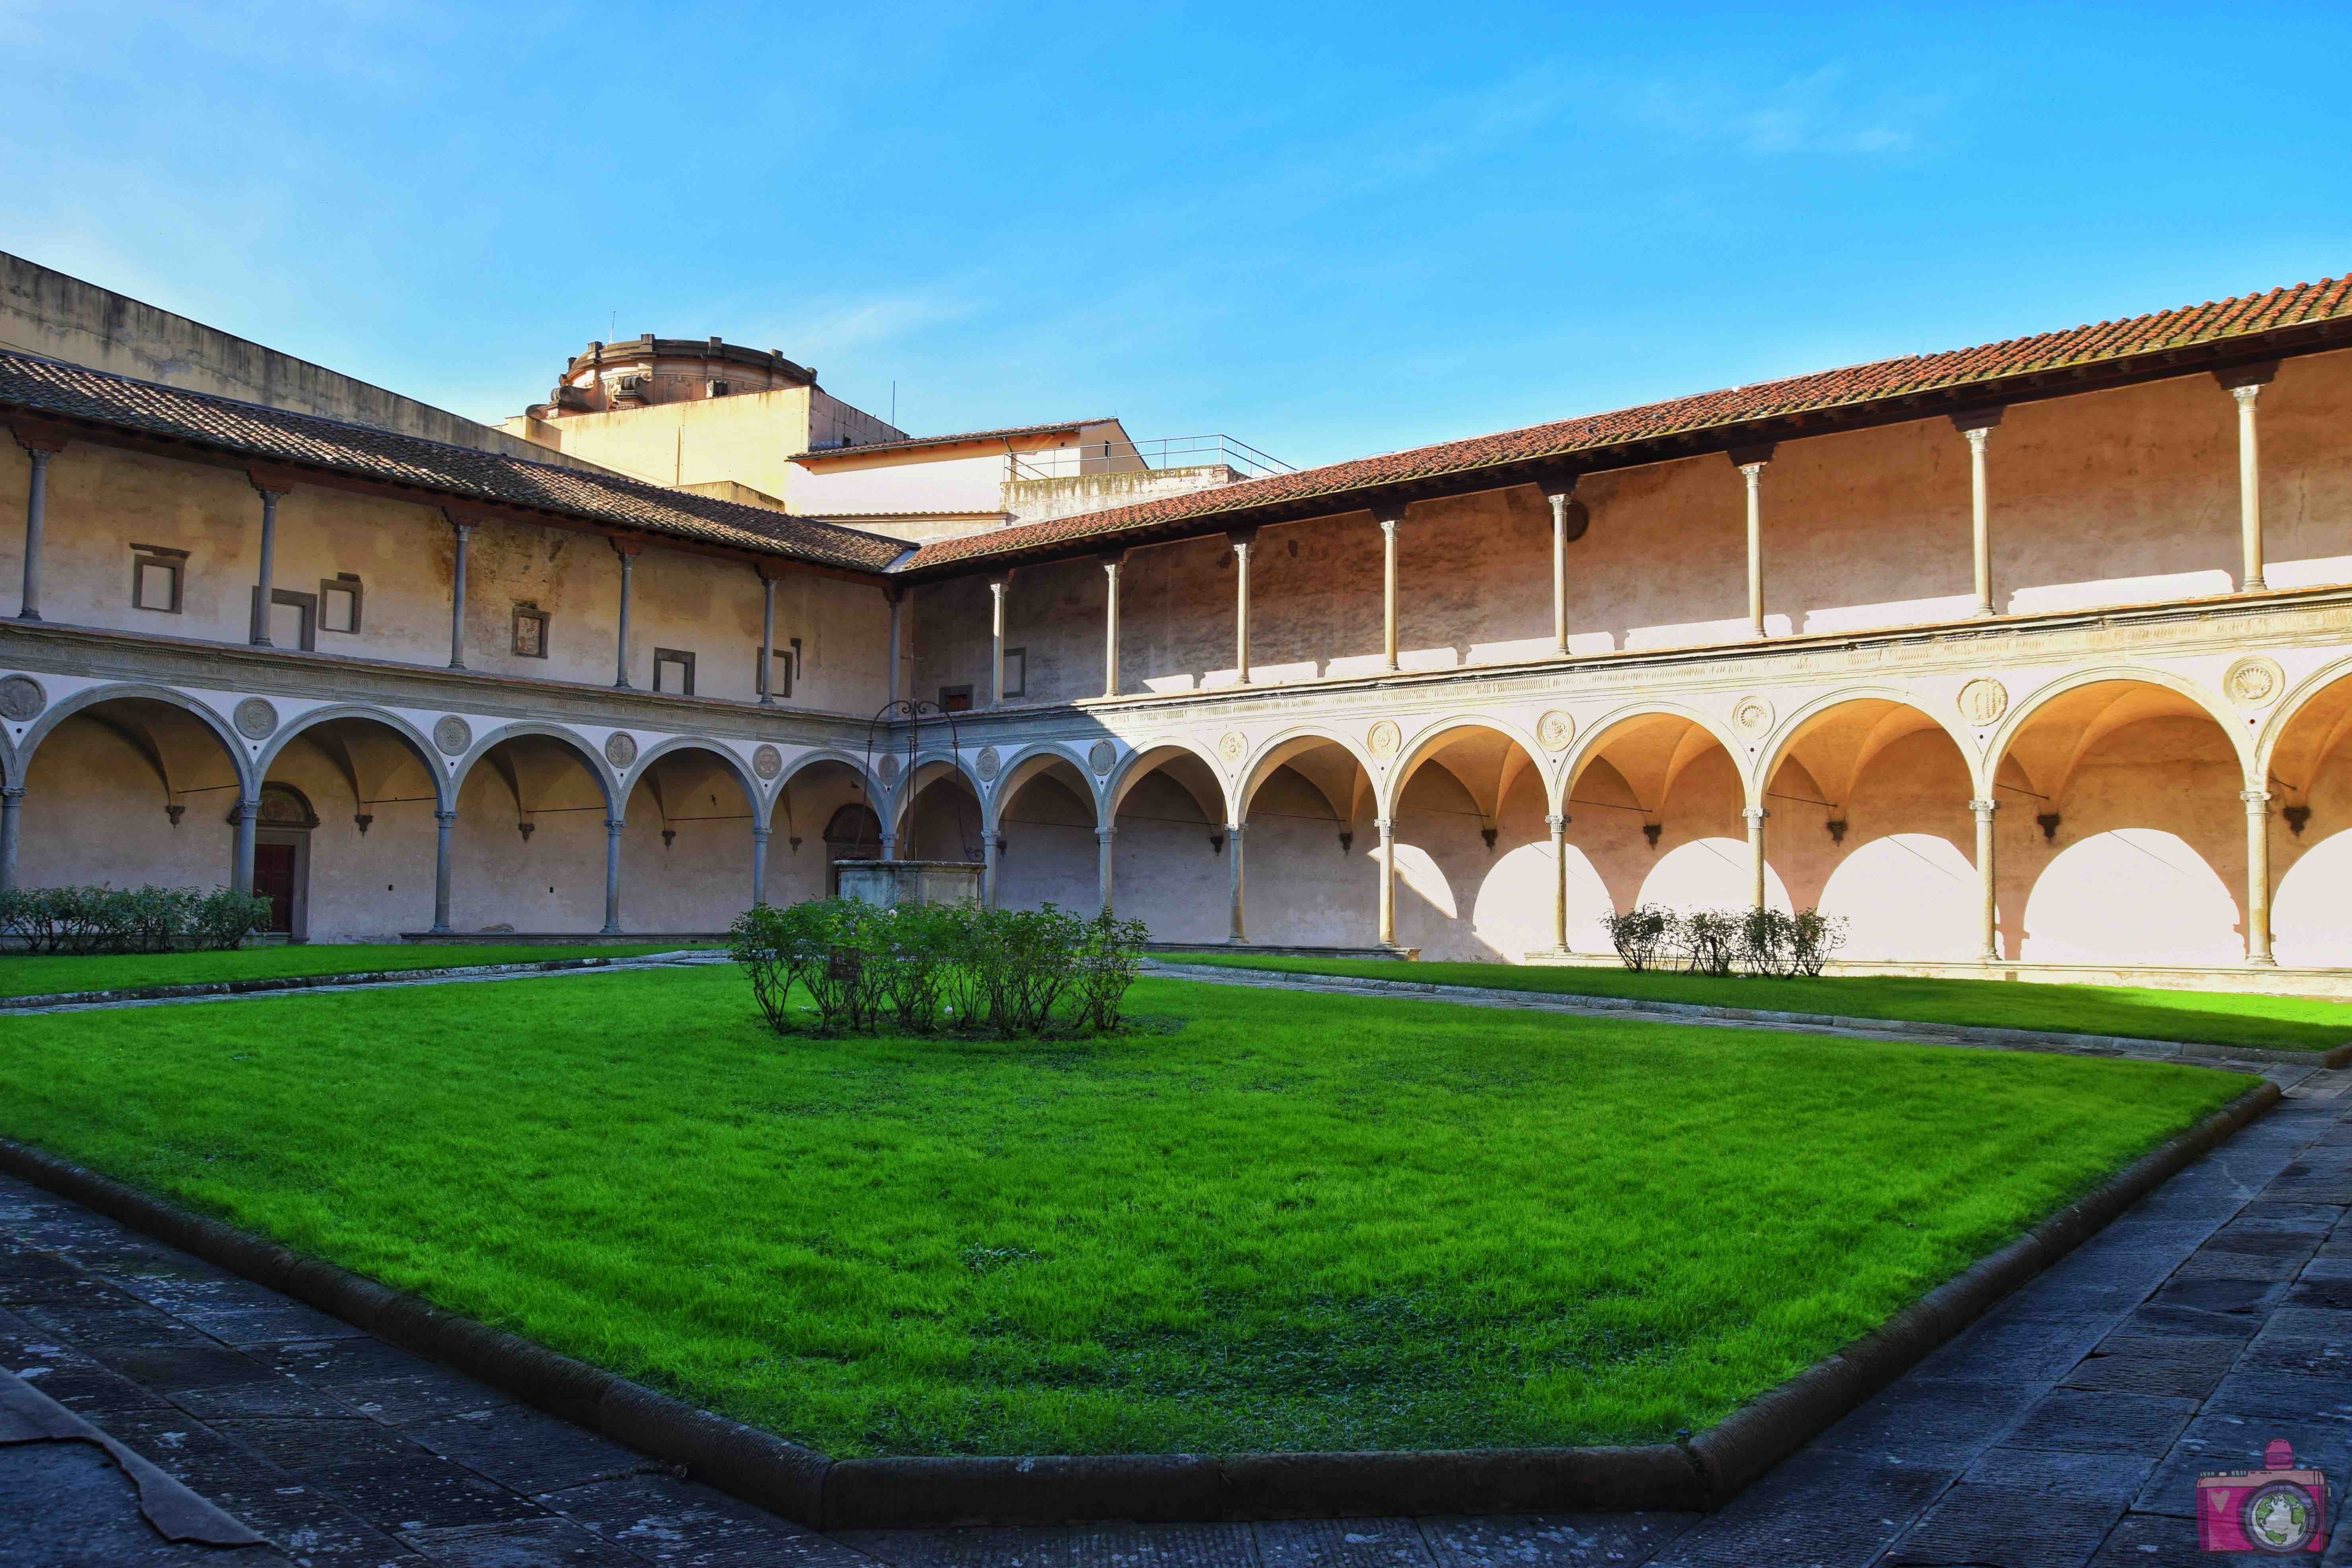
{"label": "dark stone curb edging the front of the large foreground lawn", "polygon": [[2279,1098],[2277,1084],[2256,1084],[1698,1439],[1637,1448],[828,1460],[814,1448],[442,1312],[332,1262],[301,1258],[12,1138],[0,1138],[0,1171],[435,1356],[541,1410],[682,1465],[743,1502],[823,1530],[1082,1519],[1176,1523],[1712,1512]]}

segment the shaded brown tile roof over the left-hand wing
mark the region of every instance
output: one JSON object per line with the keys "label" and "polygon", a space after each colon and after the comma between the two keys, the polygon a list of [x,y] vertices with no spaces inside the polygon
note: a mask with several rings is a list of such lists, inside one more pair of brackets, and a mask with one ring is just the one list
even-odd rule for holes
{"label": "shaded brown tile roof over the left-hand wing", "polygon": [[906,541],[814,517],[717,501],[623,475],[447,447],[9,350],[0,350],[0,411],[92,421],[270,463],[414,484],[454,501],[499,501],[849,571],[880,574],[906,555]]}

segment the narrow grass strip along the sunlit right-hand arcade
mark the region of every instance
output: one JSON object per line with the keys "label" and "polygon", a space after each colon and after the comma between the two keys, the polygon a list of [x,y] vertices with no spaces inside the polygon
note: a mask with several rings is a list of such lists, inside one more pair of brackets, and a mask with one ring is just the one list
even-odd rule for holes
{"label": "narrow grass strip along the sunlit right-hand arcade", "polygon": [[1776,1013],[1900,1018],[1994,1030],[2129,1034],[2209,1046],[2333,1051],[2352,1041],[2352,1004],[2237,992],[2173,992],[2131,985],[2032,985],[2025,980],[1915,980],[1905,976],[1823,976],[1818,980],[1548,969],[1538,964],[1397,964],[1392,959],[1301,959],[1254,952],[1171,952],[1169,964],[1277,969],[1294,976],[1355,976],[1418,985],[1486,985],[1562,997],[1635,997],[1700,1006],[1755,1006]]}

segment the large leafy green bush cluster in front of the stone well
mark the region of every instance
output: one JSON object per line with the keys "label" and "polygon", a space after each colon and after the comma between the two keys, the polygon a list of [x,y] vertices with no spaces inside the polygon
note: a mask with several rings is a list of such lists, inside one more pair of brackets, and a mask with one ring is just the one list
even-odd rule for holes
{"label": "large leafy green bush cluster in front of the stone well", "polygon": [[1143,922],[1042,910],[898,905],[816,898],[736,917],[729,954],[776,1032],[793,1027],[797,985],[821,1030],[889,1020],[906,1034],[1096,1032],[1143,966]]}

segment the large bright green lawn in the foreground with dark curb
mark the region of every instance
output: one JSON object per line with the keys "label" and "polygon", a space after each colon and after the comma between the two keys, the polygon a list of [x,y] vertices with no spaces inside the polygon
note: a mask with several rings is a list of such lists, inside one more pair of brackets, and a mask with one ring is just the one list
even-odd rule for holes
{"label": "large bright green lawn in the foreground with dark curb", "polygon": [[776,1039],[731,966],[0,1018],[0,1131],[863,1453],[1705,1427],[2251,1079],[1143,980]]}

